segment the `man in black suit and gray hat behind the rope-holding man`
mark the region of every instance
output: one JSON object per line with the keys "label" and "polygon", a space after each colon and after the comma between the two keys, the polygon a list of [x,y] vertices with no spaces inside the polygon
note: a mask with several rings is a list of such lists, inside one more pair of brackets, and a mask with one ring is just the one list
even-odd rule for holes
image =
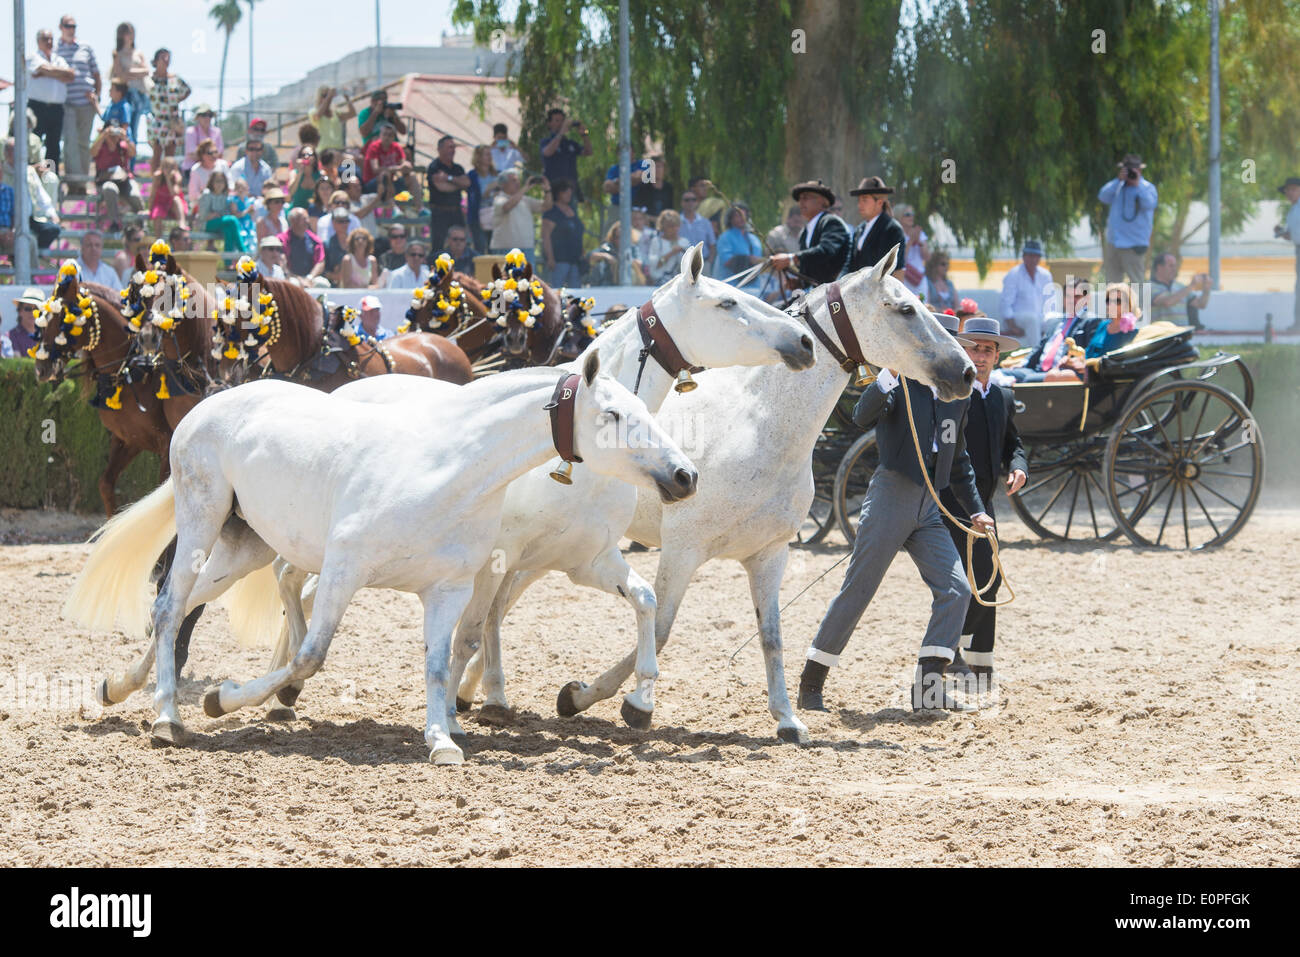
{"label": "man in black suit and gray hat behind the rope-holding man", "polygon": [[[1001,389],[989,382],[989,374],[997,365],[997,356],[1019,347],[1019,342],[1009,335],[1001,335],[1000,324],[987,316],[970,316],[962,322],[961,337],[970,345],[966,355],[975,363],[975,386],[970,398],[970,413],[966,419],[966,450],[975,472],[975,490],[985,511],[993,514],[993,498],[997,486],[1005,481],[1008,494],[1015,494],[1024,485],[1030,473],[1020,433],[1015,429],[1015,398],[1010,389]],[[970,521],[970,512],[957,499],[952,489],[939,493],[944,507],[963,521]],[[962,564],[966,564],[966,532],[944,518],[948,532],[957,546]],[[976,538],[974,547],[975,584],[983,585],[993,575],[993,546],[987,538]],[[987,601],[997,598],[1002,584],[998,575],[988,590]],[[980,605],[971,596],[962,624],[961,653],[954,662],[954,674],[975,676],[976,688],[987,690],[993,683],[993,632],[997,623],[997,609]]]}

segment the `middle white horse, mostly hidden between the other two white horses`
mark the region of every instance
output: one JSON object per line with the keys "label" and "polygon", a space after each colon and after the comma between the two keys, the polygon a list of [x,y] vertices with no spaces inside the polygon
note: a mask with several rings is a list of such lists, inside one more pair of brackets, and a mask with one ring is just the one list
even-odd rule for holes
{"label": "middle white horse, mostly hidden between the other two white horses", "polygon": [[[718,280],[702,276],[702,246],[688,250],[681,272],[651,295],[656,319],[689,365],[771,365],[784,363],[792,369],[809,368],[814,361],[812,339],[802,324],[760,299]],[[636,309],[615,321],[568,367],[580,368],[589,356],[598,356],[601,368],[637,393],[653,412],[668,398],[671,376],[658,361],[642,361],[642,338]],[[433,380],[410,376],[376,376],[350,382],[337,390],[337,398],[354,402],[404,404],[417,394],[452,389]],[[611,441],[644,441],[634,430],[616,430]],[[725,481],[724,476],[718,477]],[[632,521],[637,503],[634,486],[592,469],[577,467],[572,485],[550,478],[550,465],[524,473],[506,490],[500,532],[493,544],[491,559],[474,579],[474,593],[456,629],[451,679],[458,680],[471,653],[480,648],[484,629],[491,632],[486,649],[495,653],[500,619],[523,590],[547,571],[562,571],[577,585],[597,588],[627,601],[637,619],[638,648],[654,649],[655,597],[650,584],[624,560],[619,540]],[[281,592],[294,593],[292,572],[278,570]],[[289,607],[273,667],[296,648],[300,637],[291,625],[309,607],[312,583],[304,588],[304,606]],[[494,664],[497,664],[494,659]],[[654,657],[637,661],[636,688],[624,701],[623,714],[633,727],[649,727],[654,709]],[[499,674],[494,667],[491,674]],[[489,687],[484,713],[507,709],[504,688]],[[296,689],[281,696],[291,705]],[[468,702],[459,702],[462,710]],[[642,718],[644,716],[644,718]],[[459,726],[452,736],[459,737]]]}

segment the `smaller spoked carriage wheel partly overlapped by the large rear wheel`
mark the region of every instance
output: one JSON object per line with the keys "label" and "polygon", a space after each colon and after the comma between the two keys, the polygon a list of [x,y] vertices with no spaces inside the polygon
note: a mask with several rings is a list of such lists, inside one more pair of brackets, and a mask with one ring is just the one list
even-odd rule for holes
{"label": "smaller spoked carriage wheel partly overlapped by the large rear wheel", "polygon": [[1082,439],[1028,450],[1030,478],[1011,508],[1040,538],[1110,541],[1119,534],[1101,484],[1104,446]]}

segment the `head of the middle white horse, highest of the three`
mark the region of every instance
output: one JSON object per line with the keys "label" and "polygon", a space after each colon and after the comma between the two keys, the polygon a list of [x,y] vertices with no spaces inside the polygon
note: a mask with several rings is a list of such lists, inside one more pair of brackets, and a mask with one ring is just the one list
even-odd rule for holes
{"label": "head of the middle white horse, highest of the three", "polygon": [[[659,321],[690,365],[774,365],[807,369],[816,360],[803,325],[758,296],[703,274],[703,244],[686,250],[681,270],[653,294]],[[646,322],[653,321],[647,316]]]}

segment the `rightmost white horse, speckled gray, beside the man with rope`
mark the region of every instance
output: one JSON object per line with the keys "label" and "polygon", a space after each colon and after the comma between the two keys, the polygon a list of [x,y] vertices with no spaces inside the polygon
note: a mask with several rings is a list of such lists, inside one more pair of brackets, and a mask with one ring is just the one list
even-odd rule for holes
{"label": "rightmost white horse, speckled gray, beside the man with rope", "polygon": [[[970,394],[975,369],[966,352],[920,300],[889,276],[901,250],[840,282],[844,304],[862,348],[879,367],[932,385],[941,399]],[[807,296],[814,320],[838,339],[826,302],[827,286]],[[842,351],[844,343],[840,343]],[[659,413],[673,434],[690,421],[693,456],[708,477],[690,502],[664,511],[638,495],[628,537],[660,547],[654,593],[655,642],[668,641],[673,618],[696,570],[711,558],[733,558],[749,575],[767,671],[768,710],[784,741],[806,744],[807,728],[790,709],[781,659],[780,586],[789,542],[812,503],[812,447],[849,381],[819,343],[816,367],[792,374],[780,367],[718,369],[699,376],[699,389]],[[489,642],[495,633],[489,631]],[[488,646],[490,649],[490,645]],[[485,653],[488,664],[499,661]],[[615,694],[632,674],[625,658],[590,685],[571,681],[559,693],[560,714],[584,711]],[[467,676],[467,679],[471,676]],[[504,676],[488,676],[499,687]],[[462,681],[458,697],[473,688]]]}

